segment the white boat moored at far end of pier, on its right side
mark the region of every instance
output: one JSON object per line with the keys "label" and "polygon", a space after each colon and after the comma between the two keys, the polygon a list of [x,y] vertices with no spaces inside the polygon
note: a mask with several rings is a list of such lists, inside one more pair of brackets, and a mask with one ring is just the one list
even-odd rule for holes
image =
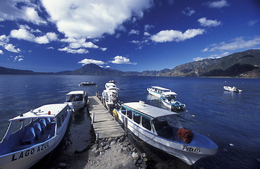
{"label": "white boat moored at far end of pier, on its right side", "polygon": [[107,108],[114,108],[118,101],[118,88],[111,82],[106,83],[105,88],[102,92],[102,102]]}

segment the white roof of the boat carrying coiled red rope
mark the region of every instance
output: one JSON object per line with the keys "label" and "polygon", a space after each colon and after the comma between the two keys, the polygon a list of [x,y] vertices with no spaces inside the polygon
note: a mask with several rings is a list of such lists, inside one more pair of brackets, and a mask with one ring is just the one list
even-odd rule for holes
{"label": "white roof of the boat carrying coiled red rope", "polygon": [[130,108],[133,111],[137,111],[139,113],[145,114],[150,116],[151,118],[159,118],[161,116],[165,115],[177,115],[178,113],[175,113],[173,111],[167,111],[162,108],[154,107],[148,104],[140,104],[140,102],[130,102],[122,104],[125,108]]}

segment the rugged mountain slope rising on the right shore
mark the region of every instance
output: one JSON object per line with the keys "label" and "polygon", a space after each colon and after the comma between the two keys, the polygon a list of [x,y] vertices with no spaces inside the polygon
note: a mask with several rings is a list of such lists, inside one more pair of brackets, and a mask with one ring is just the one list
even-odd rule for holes
{"label": "rugged mountain slope rising on the right shore", "polygon": [[216,59],[178,65],[161,76],[260,77],[260,50],[248,50]]}

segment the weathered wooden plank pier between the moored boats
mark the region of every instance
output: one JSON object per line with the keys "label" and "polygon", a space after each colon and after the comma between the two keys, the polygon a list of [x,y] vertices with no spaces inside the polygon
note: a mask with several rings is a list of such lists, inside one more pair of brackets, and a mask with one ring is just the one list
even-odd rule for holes
{"label": "weathered wooden plank pier between the moored boats", "polygon": [[93,128],[99,139],[123,136],[123,128],[113,120],[97,96],[89,96],[89,113],[94,113]]}

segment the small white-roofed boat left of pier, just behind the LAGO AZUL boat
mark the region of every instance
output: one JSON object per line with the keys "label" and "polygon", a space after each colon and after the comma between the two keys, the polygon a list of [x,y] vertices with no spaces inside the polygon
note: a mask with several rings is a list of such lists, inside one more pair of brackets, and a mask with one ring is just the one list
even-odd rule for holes
{"label": "small white-roofed boat left of pier, just behind the LAGO AZUL boat", "polygon": [[66,95],[65,103],[73,109],[73,111],[78,111],[87,104],[88,96],[85,91],[73,91]]}

